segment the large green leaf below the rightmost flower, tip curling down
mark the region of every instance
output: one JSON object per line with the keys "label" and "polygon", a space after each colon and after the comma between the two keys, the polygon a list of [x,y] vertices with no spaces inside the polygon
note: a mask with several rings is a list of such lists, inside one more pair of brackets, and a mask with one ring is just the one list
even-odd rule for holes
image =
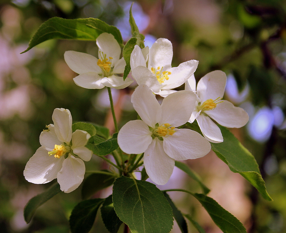
{"label": "large green leaf below the rightmost flower, tip curling down", "polygon": [[264,199],[271,201],[272,198],[266,191],[265,182],[261,177],[254,156],[227,128],[218,126],[223,134],[223,142],[210,143],[212,150],[229,166],[232,172],[239,172],[239,174],[257,188]]}

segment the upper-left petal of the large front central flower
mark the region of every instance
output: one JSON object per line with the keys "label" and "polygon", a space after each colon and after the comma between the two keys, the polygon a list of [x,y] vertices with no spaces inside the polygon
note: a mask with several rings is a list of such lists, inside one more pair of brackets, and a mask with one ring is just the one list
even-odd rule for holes
{"label": "upper-left petal of the large front central flower", "polygon": [[146,85],[139,85],[131,95],[131,102],[140,118],[150,127],[160,122],[162,110],[156,96]]}

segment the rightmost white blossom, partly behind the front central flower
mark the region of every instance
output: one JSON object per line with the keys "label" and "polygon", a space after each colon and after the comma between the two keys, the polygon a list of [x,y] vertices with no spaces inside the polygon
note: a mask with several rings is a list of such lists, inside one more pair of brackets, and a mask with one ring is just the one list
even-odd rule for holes
{"label": "rightmost white blossom, partly behind the front central flower", "polygon": [[218,124],[228,128],[240,128],[248,122],[248,114],[241,107],[235,107],[231,102],[222,100],[225,92],[227,76],[223,71],[215,70],[207,73],[198,81],[194,76],[186,82],[185,89],[195,91],[197,94],[196,107],[189,122],[196,119],[204,137],[214,143],[223,142],[223,136]]}

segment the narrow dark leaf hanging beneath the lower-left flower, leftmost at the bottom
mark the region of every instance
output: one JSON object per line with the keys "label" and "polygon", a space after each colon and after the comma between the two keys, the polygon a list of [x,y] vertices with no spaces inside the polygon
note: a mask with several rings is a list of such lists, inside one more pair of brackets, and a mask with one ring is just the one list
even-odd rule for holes
{"label": "narrow dark leaf hanging beneath the lower-left flower, leftmost at the bottom", "polygon": [[53,196],[61,192],[59,184],[56,182],[45,192],[38,194],[37,196],[31,198],[24,208],[24,218],[27,223],[29,223],[39,206],[44,204],[47,200],[51,199]]}

